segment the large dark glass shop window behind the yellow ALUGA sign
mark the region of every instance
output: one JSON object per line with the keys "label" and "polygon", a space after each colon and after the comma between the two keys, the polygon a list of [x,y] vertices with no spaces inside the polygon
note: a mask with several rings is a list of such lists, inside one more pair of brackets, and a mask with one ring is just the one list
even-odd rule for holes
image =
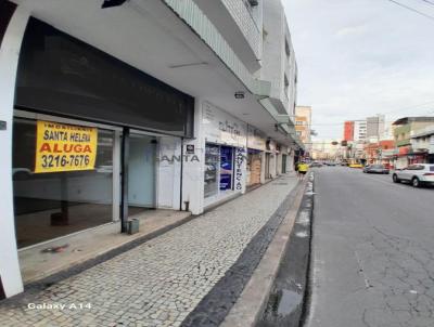
{"label": "large dark glass shop window behind the yellow ALUGA sign", "polygon": [[37,120],[14,118],[12,174],[18,248],[113,221],[114,131],[98,129],[95,164],[89,170],[37,173],[36,144]]}

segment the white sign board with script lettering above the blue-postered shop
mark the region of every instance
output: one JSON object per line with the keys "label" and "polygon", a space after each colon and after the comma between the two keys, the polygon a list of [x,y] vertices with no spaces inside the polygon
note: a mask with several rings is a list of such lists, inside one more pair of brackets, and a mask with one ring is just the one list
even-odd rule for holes
{"label": "white sign board with script lettering above the blue-postered shop", "polygon": [[247,125],[207,102],[203,105],[202,123],[207,142],[246,146]]}

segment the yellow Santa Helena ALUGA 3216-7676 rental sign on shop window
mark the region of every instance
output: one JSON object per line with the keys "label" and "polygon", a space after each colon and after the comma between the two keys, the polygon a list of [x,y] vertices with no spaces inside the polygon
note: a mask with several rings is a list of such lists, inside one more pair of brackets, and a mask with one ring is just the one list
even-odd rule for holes
{"label": "yellow Santa Helena ALUGA 3216-7676 rental sign on shop window", "polygon": [[37,121],[35,173],[94,169],[98,129]]}

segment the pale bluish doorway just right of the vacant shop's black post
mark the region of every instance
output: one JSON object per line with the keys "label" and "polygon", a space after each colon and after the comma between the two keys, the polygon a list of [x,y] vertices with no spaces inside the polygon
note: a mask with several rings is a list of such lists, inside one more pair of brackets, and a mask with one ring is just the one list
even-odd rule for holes
{"label": "pale bluish doorway just right of the vacant shop's black post", "polygon": [[131,134],[128,158],[128,213],[133,215],[155,208],[157,139]]}

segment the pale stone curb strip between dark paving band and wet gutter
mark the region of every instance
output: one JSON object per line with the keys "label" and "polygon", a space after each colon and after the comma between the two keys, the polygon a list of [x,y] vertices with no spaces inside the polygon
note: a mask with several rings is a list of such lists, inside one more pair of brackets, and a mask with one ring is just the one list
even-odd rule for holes
{"label": "pale stone curb strip between dark paving band and wet gutter", "polygon": [[259,261],[254,274],[237,303],[220,325],[221,327],[254,327],[260,321],[267,305],[280,262],[285,253],[290,234],[302,205],[307,180],[298,184],[294,202],[286,212],[273,239]]}

